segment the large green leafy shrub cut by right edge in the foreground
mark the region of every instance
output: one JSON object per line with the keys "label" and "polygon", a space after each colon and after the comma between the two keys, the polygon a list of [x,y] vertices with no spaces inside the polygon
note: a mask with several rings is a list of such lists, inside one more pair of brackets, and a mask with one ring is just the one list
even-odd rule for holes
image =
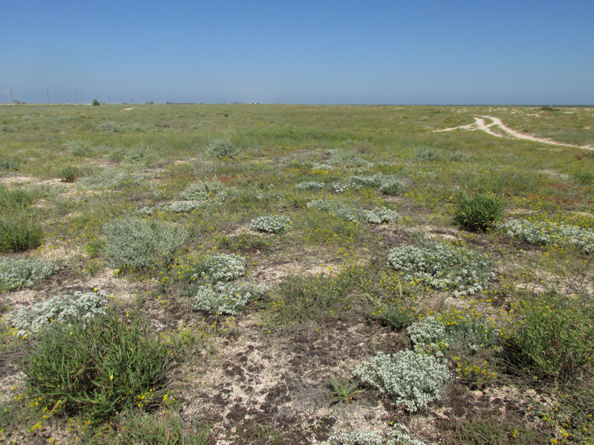
{"label": "large green leafy shrub cut by right edge in the foreground", "polygon": [[594,310],[585,300],[556,291],[522,298],[507,332],[511,364],[552,379],[571,379],[591,367]]}

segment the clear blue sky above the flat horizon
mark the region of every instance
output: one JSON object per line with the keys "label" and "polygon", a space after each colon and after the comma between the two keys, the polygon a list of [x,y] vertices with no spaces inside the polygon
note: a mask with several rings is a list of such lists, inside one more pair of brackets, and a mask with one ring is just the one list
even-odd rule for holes
{"label": "clear blue sky above the flat horizon", "polygon": [[0,5],[0,102],[594,104],[594,1]]}

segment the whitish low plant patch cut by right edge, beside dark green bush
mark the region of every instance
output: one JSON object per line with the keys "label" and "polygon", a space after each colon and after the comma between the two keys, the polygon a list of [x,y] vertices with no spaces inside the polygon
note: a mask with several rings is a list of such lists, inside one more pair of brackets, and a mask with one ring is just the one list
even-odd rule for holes
{"label": "whitish low plant patch cut by right edge, beside dark green bush", "polygon": [[594,252],[594,230],[591,228],[563,222],[509,219],[503,224],[503,230],[508,235],[519,237],[530,244],[574,246],[584,253]]}

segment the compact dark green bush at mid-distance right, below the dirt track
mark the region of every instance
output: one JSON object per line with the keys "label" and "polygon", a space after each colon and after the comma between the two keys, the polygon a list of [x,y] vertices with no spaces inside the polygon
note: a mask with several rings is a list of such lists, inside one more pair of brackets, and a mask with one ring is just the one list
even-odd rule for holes
{"label": "compact dark green bush at mid-distance right, below the dirt track", "polygon": [[498,196],[463,193],[458,197],[454,222],[472,232],[490,230],[503,218],[503,203]]}

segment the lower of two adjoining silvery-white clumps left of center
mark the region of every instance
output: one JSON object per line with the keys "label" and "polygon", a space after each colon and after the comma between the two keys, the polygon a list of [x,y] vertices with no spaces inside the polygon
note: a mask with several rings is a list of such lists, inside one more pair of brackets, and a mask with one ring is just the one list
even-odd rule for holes
{"label": "lower of two adjoining silvery-white clumps left of center", "polygon": [[198,287],[194,307],[213,314],[237,315],[239,309],[254,301],[262,291],[254,286],[235,282],[216,282]]}

